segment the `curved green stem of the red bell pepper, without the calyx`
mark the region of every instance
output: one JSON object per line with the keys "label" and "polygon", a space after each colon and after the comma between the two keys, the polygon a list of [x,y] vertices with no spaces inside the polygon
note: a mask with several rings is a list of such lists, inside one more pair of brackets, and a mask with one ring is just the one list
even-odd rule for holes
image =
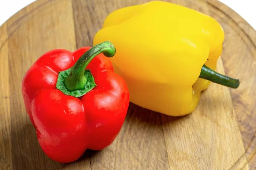
{"label": "curved green stem of the red bell pepper, without the calyx", "polygon": [[103,53],[106,57],[113,57],[116,49],[110,41],[105,41],[86,51],[71,68],[70,74],[64,81],[68,91],[84,90],[87,82],[87,77],[84,76],[85,68],[100,53]]}

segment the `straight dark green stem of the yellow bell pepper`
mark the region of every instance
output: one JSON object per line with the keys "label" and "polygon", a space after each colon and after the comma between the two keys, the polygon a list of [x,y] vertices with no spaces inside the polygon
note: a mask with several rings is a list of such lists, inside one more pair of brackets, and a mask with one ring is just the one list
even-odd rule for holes
{"label": "straight dark green stem of the yellow bell pepper", "polygon": [[233,79],[231,77],[224,76],[222,74],[213,71],[211,68],[203,65],[199,78],[207,79],[211,82],[215,82],[220,85],[224,85],[230,88],[238,88],[240,82],[239,79]]}

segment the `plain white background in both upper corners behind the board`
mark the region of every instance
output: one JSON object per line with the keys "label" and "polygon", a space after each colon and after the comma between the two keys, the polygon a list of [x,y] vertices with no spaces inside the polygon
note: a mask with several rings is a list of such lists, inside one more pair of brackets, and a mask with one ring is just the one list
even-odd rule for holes
{"label": "plain white background in both upper corners behind the board", "polygon": [[[0,26],[20,9],[35,0],[0,0]],[[219,0],[243,17],[256,30],[255,0]],[[253,17],[254,16],[254,17]]]}

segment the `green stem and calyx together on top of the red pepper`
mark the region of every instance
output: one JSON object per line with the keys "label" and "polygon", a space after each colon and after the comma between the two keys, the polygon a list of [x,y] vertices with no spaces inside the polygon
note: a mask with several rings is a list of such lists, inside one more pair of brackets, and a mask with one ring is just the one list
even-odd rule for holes
{"label": "green stem and calyx together on top of the red pepper", "polygon": [[113,57],[116,54],[116,48],[110,41],[93,46],[79,58],[72,68],[59,72],[56,88],[64,94],[81,97],[96,87],[93,75],[90,70],[86,70],[86,67],[100,53],[106,57]]}

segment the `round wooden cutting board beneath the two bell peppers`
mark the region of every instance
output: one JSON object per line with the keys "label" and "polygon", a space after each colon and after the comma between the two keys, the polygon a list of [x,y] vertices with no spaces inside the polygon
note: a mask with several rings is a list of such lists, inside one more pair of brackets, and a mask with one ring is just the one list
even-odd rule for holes
{"label": "round wooden cutting board beneath the two bell peppers", "polygon": [[254,169],[256,159],[246,162],[256,144],[256,31],[217,0],[169,2],[221,24],[225,41],[217,71],[239,78],[238,89],[212,83],[192,114],[176,118],[131,104],[111,146],[87,150],[70,164],[41,150],[21,95],[26,70],[51,49],[92,45],[111,11],[146,1],[38,0],[0,27],[1,170],[228,170],[235,163],[233,170]]}

